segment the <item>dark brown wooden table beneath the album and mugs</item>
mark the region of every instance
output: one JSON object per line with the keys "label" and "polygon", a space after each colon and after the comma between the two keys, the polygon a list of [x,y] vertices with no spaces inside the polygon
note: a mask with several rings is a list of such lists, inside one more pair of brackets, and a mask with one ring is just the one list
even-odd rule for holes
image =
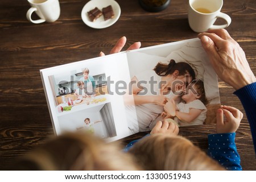
{"label": "dark brown wooden table beneath the album and mugs", "polygon": [[[54,23],[33,24],[26,19],[30,5],[26,0],[0,1],[0,168],[11,164],[31,148],[53,135],[46,97],[39,69],[97,57],[109,53],[121,36],[142,47],[196,38],[188,26],[188,1],[171,1],[159,13],[144,11],[138,1],[117,2],[121,16],[113,26],[96,30],[81,20],[81,10],[88,1],[60,0],[60,18]],[[253,72],[256,73],[256,3],[254,0],[225,1],[222,11],[232,23],[226,28],[240,43]],[[233,88],[220,80],[221,104],[243,110],[232,93]],[[180,134],[207,150],[207,134],[214,125],[185,127]],[[123,140],[142,137],[135,134]],[[246,115],[237,131],[237,148],[243,170],[256,169],[255,152]]]}

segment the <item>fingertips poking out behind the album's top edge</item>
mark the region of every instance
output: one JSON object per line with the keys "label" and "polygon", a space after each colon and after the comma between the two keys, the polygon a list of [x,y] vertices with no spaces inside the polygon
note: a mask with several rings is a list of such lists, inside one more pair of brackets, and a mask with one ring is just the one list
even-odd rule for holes
{"label": "fingertips poking out behind the album's top edge", "polygon": [[[122,48],[125,46],[125,43],[126,43],[126,37],[123,36],[122,38],[120,38],[117,41],[115,46],[110,51],[110,54],[120,52],[122,50]],[[141,47],[141,42],[135,42],[135,43],[131,44],[131,46],[126,49],[126,51],[134,50],[134,49],[139,49],[140,47]],[[105,56],[105,53],[100,52],[100,56]]]}

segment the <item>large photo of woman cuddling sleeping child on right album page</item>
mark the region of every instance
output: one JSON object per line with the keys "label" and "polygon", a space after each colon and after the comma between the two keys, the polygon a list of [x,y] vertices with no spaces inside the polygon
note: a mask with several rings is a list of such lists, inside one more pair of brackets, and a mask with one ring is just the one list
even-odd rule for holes
{"label": "large photo of woman cuddling sleeping child on right album page", "polygon": [[[191,47],[187,47],[191,50]],[[197,51],[198,48],[194,48]],[[207,65],[203,66],[206,63],[203,62],[204,55],[199,53],[200,49],[197,53],[203,55],[201,57],[196,55],[195,50],[186,53],[183,50],[172,52],[166,57],[169,60],[154,61],[156,64],[151,69],[138,71],[136,68],[137,71],[130,72],[130,84],[133,84],[131,92],[124,96],[124,104],[131,134],[152,130],[156,122],[164,120],[177,126],[204,125],[208,123],[206,119],[210,123],[216,122],[216,118],[210,117],[210,114],[214,115],[216,109],[213,107],[220,106],[217,76],[207,70]],[[148,52],[144,54],[146,56],[143,53],[141,60],[148,58]],[[141,60],[137,60],[137,63]],[[130,69],[134,63],[132,60]],[[207,81],[208,93],[204,80]],[[214,88],[209,89],[209,85]],[[213,93],[209,94],[211,89]],[[208,98],[210,101],[215,98],[213,104],[209,104]]]}

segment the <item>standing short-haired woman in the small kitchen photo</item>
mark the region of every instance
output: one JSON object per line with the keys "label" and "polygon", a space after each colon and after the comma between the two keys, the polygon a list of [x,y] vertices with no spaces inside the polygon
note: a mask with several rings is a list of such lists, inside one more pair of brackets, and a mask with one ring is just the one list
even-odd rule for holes
{"label": "standing short-haired woman in the small kitchen photo", "polygon": [[82,77],[80,78],[79,81],[82,81],[84,82],[84,92],[90,97],[90,96],[93,96],[95,97],[96,96],[96,82],[93,78],[93,76],[90,76],[89,75],[89,69],[88,68],[85,68],[83,71],[82,71]]}

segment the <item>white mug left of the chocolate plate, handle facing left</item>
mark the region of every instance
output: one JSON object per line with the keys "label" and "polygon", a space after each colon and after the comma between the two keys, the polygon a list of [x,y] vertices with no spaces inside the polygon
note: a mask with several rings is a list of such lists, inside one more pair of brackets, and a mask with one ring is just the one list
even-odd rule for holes
{"label": "white mug left of the chocolate plate, handle facing left", "polygon": [[[59,0],[27,0],[31,8],[27,11],[27,19],[32,23],[55,22],[60,16]],[[31,15],[35,13],[41,18],[32,20]]]}

